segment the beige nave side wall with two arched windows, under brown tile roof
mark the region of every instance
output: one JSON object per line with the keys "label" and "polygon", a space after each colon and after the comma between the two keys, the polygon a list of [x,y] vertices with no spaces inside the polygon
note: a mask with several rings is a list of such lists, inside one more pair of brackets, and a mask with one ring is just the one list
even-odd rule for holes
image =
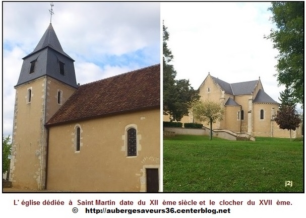
{"label": "beige nave side wall with two arched windows, under brown tile roof", "polygon": [[[75,151],[76,126],[81,128],[79,152]],[[127,157],[129,126],[137,129],[137,157]],[[159,109],[49,128],[47,189],[146,191],[146,168],[160,170]]]}

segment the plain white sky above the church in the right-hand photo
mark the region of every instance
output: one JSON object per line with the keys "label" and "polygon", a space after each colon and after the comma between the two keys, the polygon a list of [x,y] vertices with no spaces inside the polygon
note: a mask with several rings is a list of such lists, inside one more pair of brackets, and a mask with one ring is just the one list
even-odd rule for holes
{"label": "plain white sky above the church in the right-hand photo", "polygon": [[161,19],[174,58],[176,79],[189,79],[198,89],[210,75],[227,83],[260,80],[264,91],[279,102],[275,65],[278,54],[271,40],[275,28],[270,3],[162,3]]}

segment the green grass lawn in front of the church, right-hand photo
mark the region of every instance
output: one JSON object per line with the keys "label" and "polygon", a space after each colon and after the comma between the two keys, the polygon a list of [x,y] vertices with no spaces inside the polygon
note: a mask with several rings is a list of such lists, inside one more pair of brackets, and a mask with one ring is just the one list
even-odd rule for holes
{"label": "green grass lawn in front of the church, right-hand photo", "polygon": [[[292,181],[292,187],[285,181]],[[268,137],[164,138],[163,191],[303,192],[303,142]]]}

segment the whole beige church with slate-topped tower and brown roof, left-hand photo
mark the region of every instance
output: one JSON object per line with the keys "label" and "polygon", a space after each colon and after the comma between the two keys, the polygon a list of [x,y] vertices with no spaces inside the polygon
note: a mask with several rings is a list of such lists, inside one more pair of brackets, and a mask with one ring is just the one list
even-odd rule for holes
{"label": "whole beige church with slate-topped tower and brown roof, left-hand photo", "polygon": [[160,190],[160,64],[80,86],[50,24],[15,89],[13,187]]}

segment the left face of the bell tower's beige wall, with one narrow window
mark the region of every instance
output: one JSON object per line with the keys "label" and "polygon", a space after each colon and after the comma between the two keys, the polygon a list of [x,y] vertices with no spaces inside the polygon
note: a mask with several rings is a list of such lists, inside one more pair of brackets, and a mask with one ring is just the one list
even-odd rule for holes
{"label": "left face of the bell tower's beige wall, with one narrow window", "polygon": [[39,189],[42,182],[44,87],[45,78],[40,78],[16,88],[10,175],[16,188]]}

